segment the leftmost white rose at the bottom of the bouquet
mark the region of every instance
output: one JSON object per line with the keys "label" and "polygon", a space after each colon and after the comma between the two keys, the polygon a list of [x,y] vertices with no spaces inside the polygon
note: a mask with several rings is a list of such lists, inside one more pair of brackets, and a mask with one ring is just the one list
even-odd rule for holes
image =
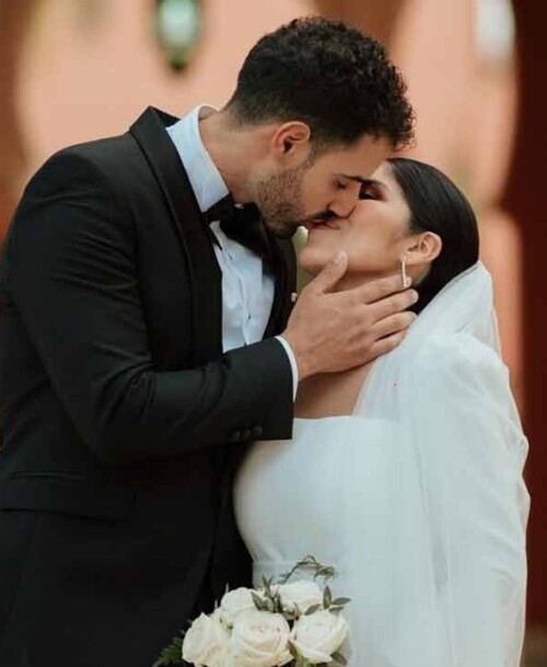
{"label": "leftmost white rose at the bottom of the bouquet", "polygon": [[183,659],[197,667],[221,667],[224,664],[230,633],[219,617],[198,617],[183,642]]}

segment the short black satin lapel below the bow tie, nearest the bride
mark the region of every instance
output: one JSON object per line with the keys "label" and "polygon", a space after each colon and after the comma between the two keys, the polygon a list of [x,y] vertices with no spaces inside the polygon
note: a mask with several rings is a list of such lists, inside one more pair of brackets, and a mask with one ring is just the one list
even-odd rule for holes
{"label": "short black satin lapel below the bow tie, nearest the bride", "polygon": [[282,332],[294,305],[291,295],[296,292],[296,258],[292,241],[277,238],[269,230],[267,234],[276,273],[276,292],[264,338],[271,338]]}

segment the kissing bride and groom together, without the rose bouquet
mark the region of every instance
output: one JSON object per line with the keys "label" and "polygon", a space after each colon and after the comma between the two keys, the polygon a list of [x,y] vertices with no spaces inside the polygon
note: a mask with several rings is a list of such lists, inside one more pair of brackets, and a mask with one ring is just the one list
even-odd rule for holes
{"label": "kissing bride and groom together, without the rose bouquet", "polygon": [[517,667],[527,443],[476,217],[397,156],[412,125],[382,45],[301,19],[220,110],[34,175],[0,274],[1,665],[150,667],[312,553],[352,667]]}

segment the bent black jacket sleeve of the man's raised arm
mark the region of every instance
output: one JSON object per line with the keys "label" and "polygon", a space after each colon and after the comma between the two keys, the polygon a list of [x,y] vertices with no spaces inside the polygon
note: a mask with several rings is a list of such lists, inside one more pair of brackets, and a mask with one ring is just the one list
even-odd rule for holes
{"label": "bent black jacket sleeve of the man's raised arm", "polygon": [[292,375],[279,341],[202,367],[154,368],[133,221],[88,159],[63,151],[34,177],[4,262],[8,289],[54,390],[104,461],[290,437]]}

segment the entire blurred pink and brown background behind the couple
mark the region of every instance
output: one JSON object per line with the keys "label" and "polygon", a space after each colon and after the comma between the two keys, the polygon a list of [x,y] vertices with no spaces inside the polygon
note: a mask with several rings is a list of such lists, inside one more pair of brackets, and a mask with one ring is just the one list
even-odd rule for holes
{"label": "entire blurred pink and brown background behind the couple", "polygon": [[305,14],[342,19],[388,46],[418,114],[410,154],[451,175],[479,213],[531,441],[526,667],[547,666],[547,3],[0,0],[0,235],[54,151],[121,133],[148,105],[174,115],[221,106],[253,44]]}

